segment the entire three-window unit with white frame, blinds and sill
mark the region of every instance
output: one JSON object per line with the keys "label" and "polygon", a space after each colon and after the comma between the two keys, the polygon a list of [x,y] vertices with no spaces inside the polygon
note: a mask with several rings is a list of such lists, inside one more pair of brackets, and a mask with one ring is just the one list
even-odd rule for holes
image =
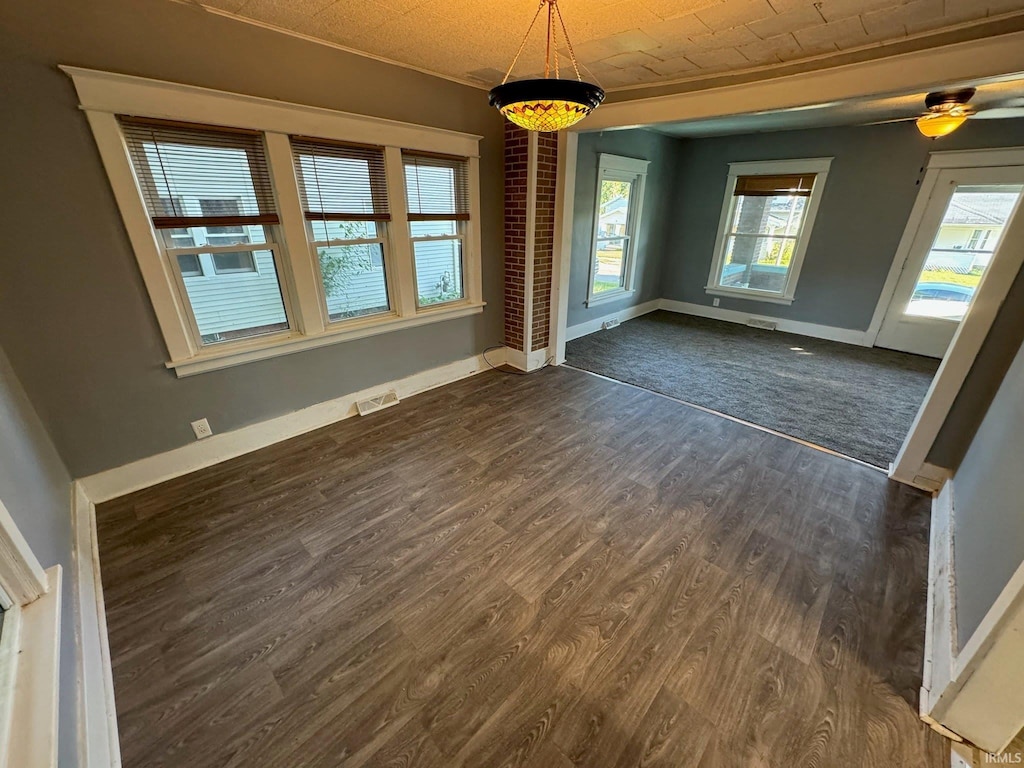
{"label": "entire three-window unit with white frame, blinds and sill", "polygon": [[178,376],[483,311],[479,136],[66,71]]}

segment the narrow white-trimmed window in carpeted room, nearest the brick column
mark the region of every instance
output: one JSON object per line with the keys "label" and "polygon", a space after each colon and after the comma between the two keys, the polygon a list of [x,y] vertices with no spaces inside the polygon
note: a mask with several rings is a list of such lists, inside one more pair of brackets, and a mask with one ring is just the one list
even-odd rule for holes
{"label": "narrow white-trimmed window in carpeted room, nearest the brick column", "polygon": [[588,304],[620,298],[633,290],[647,166],[646,160],[600,157]]}

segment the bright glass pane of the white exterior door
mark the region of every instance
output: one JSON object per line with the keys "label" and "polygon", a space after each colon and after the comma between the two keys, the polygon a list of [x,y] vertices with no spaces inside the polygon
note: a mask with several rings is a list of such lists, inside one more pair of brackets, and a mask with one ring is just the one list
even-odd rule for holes
{"label": "bright glass pane of the white exterior door", "polygon": [[906,313],[961,321],[1024,185],[957,186],[918,275]]}

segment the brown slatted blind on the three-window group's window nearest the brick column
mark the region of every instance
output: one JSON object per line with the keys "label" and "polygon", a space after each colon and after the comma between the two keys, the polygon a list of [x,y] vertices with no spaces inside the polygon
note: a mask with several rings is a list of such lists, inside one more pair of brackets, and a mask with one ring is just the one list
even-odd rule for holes
{"label": "brown slatted blind on the three-window group's window nearest the brick column", "polygon": [[410,221],[469,220],[469,162],[449,155],[402,152]]}

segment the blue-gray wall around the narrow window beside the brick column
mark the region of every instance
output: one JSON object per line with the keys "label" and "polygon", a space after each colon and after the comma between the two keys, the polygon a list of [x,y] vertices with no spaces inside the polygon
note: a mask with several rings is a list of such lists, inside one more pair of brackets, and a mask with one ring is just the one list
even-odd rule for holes
{"label": "blue-gray wall around the narrow window beside the brick column", "polygon": [[[604,131],[580,136],[577,158],[575,200],[572,207],[572,261],[569,270],[568,325],[616,312],[634,304],[659,298],[662,259],[668,253],[668,234],[673,219],[673,187],[681,142],[644,130]],[[591,245],[597,200],[597,163],[602,154],[649,160],[644,189],[644,209],[637,237],[636,292],[617,301],[587,306]]]}

